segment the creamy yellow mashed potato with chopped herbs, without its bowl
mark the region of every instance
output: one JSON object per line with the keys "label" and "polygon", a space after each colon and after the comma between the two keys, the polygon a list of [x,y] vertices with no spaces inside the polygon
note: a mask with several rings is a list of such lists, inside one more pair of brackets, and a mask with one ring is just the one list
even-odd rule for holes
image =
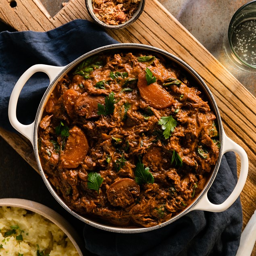
{"label": "creamy yellow mashed potato with chopped herbs, without its bowl", "polygon": [[0,256],[78,256],[70,239],[40,214],[0,207]]}

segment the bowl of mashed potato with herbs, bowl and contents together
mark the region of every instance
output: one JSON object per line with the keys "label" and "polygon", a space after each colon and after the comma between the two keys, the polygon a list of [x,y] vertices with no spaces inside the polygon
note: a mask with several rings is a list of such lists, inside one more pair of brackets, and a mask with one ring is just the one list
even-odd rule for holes
{"label": "bowl of mashed potato with herbs, bowl and contents together", "polygon": [[54,210],[30,200],[0,199],[0,256],[82,256],[80,244]]}

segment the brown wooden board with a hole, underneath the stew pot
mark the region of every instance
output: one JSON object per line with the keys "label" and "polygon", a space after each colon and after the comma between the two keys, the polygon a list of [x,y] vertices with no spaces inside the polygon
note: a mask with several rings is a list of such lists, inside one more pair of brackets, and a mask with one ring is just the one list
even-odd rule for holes
{"label": "brown wooden board with a hole, underneath the stew pot", "polygon": [[[19,0],[17,6],[15,3],[1,0],[0,19],[17,31],[47,31],[74,19],[90,20],[84,0],[70,0],[54,17],[50,17],[39,0]],[[187,62],[204,79],[219,106],[225,132],[249,157],[248,179],[241,193],[245,227],[256,209],[256,98],[157,0],[147,0],[141,17],[130,27],[107,33],[119,42],[167,50]],[[0,135],[38,172],[27,139],[4,129],[0,129]]]}

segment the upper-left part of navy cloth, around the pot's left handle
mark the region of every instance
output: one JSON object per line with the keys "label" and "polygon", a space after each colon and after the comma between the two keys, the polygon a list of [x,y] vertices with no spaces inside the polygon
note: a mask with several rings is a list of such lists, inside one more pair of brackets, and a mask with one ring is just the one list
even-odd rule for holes
{"label": "upper-left part of navy cloth, around the pot's left handle", "polygon": [[[101,46],[118,43],[94,23],[77,19],[48,32],[0,33],[0,126],[15,131],[8,119],[8,103],[19,77],[35,64],[65,66]],[[17,118],[23,124],[35,119],[40,99],[49,85],[44,73],[33,75],[23,87]]]}

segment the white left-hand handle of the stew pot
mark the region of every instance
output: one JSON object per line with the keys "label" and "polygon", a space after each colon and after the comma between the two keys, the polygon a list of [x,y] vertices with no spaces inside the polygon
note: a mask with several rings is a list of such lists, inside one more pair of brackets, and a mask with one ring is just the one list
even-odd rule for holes
{"label": "white left-hand handle of the stew pot", "polygon": [[25,71],[23,75],[21,75],[21,77],[19,78],[19,80],[15,84],[15,87],[12,90],[12,93],[10,95],[9,106],[8,106],[8,117],[9,117],[10,123],[17,131],[19,131],[22,135],[27,137],[32,144],[33,144],[33,131],[34,131],[35,121],[29,125],[23,125],[17,119],[16,109],[17,109],[17,103],[18,103],[21,90],[24,87],[25,83],[33,74],[37,72],[44,72],[48,75],[50,79],[50,83],[52,83],[54,78],[56,78],[56,76],[64,68],[65,67],[56,67],[56,66],[43,65],[43,64],[34,65],[29,69],[27,69],[27,71]]}

